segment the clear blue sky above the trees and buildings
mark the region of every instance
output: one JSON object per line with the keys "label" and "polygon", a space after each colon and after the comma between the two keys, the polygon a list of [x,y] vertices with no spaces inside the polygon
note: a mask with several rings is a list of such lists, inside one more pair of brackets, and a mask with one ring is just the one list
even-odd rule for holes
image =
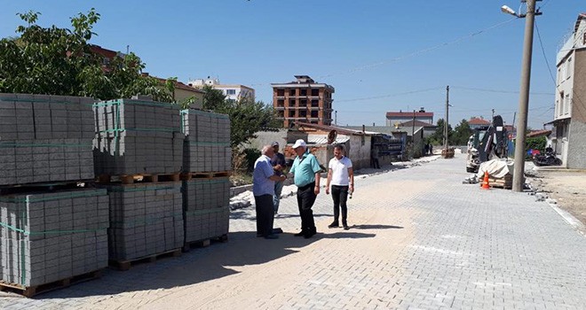
{"label": "clear blue sky above the trees and buildings", "polygon": [[[179,81],[218,78],[256,89],[272,105],[271,83],[294,75],[336,89],[337,125],[385,124],[385,112],[434,112],[449,123],[490,119],[512,124],[519,109],[525,19],[501,12],[519,0],[0,0],[0,37],[16,35],[18,12],[38,24],[71,27],[95,8],[90,43],[136,53],[146,72]],[[553,120],[556,54],[583,0],[543,0],[536,17],[528,126]],[[553,77],[552,75],[553,74]]]}

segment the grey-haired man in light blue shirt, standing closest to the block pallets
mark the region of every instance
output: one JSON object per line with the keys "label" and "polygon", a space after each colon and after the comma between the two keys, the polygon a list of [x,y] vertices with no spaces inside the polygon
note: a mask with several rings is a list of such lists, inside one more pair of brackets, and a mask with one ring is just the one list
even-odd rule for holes
{"label": "grey-haired man in light blue shirt, standing closest to the block pallets", "polygon": [[273,146],[265,145],[261,154],[254,163],[252,173],[252,193],[257,205],[257,236],[264,236],[265,239],[276,239],[279,236],[273,234],[274,182],[282,182],[287,176],[274,173],[271,165],[271,158],[274,155]]}

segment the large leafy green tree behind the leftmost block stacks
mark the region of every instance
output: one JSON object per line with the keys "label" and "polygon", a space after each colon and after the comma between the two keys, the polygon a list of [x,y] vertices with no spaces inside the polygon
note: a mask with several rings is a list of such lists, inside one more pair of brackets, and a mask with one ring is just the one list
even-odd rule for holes
{"label": "large leafy green tree behind the leftmost block stacks", "polygon": [[91,51],[92,29],[100,15],[94,9],[71,18],[73,29],[40,27],[40,13],[19,14],[27,26],[19,37],[0,40],[0,92],[94,97],[102,100],[151,95],[171,102],[172,91],[142,76],[145,64],[133,53],[110,60]]}

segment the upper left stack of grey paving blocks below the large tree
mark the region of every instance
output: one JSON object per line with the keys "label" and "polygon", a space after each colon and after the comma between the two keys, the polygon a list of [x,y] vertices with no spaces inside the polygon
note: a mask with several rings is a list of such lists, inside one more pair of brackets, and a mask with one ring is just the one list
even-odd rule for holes
{"label": "upper left stack of grey paving blocks below the large tree", "polygon": [[92,179],[92,103],[0,94],[0,185]]}

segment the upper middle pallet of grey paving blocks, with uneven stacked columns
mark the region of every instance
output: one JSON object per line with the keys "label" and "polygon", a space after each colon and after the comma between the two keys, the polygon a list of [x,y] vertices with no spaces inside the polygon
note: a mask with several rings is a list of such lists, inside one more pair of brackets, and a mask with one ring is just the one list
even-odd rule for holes
{"label": "upper middle pallet of grey paving blocks, with uneven stacked columns", "polygon": [[117,99],[99,102],[93,111],[95,172],[102,180],[181,171],[184,135],[178,105]]}

